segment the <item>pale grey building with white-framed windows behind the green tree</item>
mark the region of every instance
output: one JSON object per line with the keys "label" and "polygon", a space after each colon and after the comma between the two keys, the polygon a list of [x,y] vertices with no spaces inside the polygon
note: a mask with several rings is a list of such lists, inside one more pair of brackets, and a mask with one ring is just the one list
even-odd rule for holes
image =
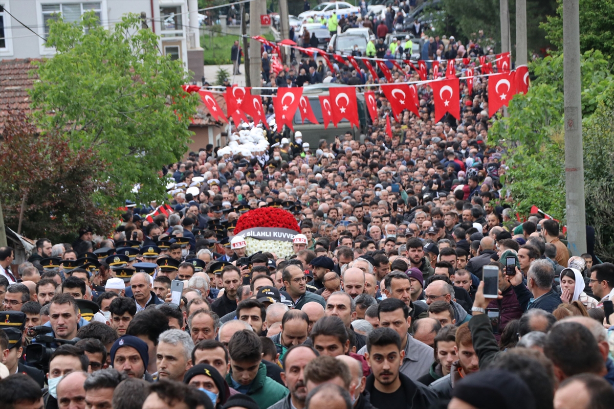
{"label": "pale grey building with white-framed windows behind the green tree", "polygon": [[94,10],[107,29],[125,13],[136,13],[144,15],[147,26],[160,36],[161,52],[180,59],[185,69],[194,72],[193,81],[203,77],[198,0],[0,0],[0,5],[6,9],[0,12],[0,59],[52,57],[55,50],[45,46],[44,38],[55,13],[61,13],[66,21],[76,21],[84,12]]}

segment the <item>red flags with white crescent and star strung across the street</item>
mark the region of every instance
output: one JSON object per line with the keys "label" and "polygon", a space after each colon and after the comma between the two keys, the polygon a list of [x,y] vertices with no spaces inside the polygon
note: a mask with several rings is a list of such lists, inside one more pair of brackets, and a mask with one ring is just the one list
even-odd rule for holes
{"label": "red flags with white crescent and star strung across the street", "polygon": [[[257,40],[261,41],[260,39]],[[266,39],[262,40],[271,43]],[[276,45],[275,43],[271,44],[272,47],[274,46],[279,48],[279,45]],[[297,48],[303,49],[302,47]],[[305,48],[304,50],[309,50],[309,48]],[[321,50],[312,48],[311,52],[320,53],[320,55],[324,56],[325,60],[330,63],[326,57],[326,53],[322,53]],[[338,54],[333,54],[332,56],[339,63],[346,64],[344,56]],[[367,67],[368,71],[371,72],[373,77],[379,77],[375,71],[375,68],[368,61],[368,58],[352,56],[347,56],[346,58],[348,59],[348,63],[354,66],[357,70],[359,70],[359,64],[357,63],[356,59],[362,59],[363,63],[365,63],[365,66]],[[392,74],[389,68],[386,66],[385,60],[374,60],[375,65],[383,73],[384,77],[386,77],[388,81],[391,81]],[[419,97],[417,87],[424,85],[428,85],[433,93],[435,121],[441,120],[446,113],[449,113],[457,120],[460,120],[461,78],[457,77],[457,75],[460,73],[456,72],[453,61],[454,60],[448,61],[445,68],[445,74],[441,78],[438,78],[438,70],[440,69],[438,61],[430,61],[432,63],[433,74],[435,74],[433,76],[435,79],[427,80],[426,63],[429,61],[420,60],[418,61],[418,67],[415,67],[411,61],[406,60],[405,62],[410,64],[410,66],[413,67],[416,72],[418,72],[421,78],[421,82],[419,84],[409,82],[389,82],[383,84],[370,84],[367,86],[379,86],[381,91],[384,93],[384,96],[386,96],[387,100],[389,101],[392,109],[392,115],[394,115],[394,118],[397,121],[400,121],[404,110],[409,110],[415,115],[419,115]],[[516,67],[515,70],[511,70],[510,53],[496,55],[495,60],[492,62],[486,61],[486,57],[481,56],[479,57],[479,61],[480,66],[468,68],[464,72],[465,76],[462,78],[467,81],[468,92],[471,94],[473,90],[473,79],[475,77],[489,77],[489,117],[495,115],[495,113],[501,107],[508,106],[511,99],[516,94],[527,93],[529,88],[528,68],[526,65],[523,65]],[[494,72],[492,67],[493,62],[496,64],[495,67],[497,72]],[[391,63],[394,64],[394,66],[397,66],[399,69],[402,69],[402,67],[398,64],[398,61],[392,60]],[[475,74],[475,69],[480,69],[481,74]],[[226,87],[226,91],[223,93],[227,105],[226,114],[224,114],[222,108],[212,96],[212,91],[201,90],[197,86],[195,89],[194,87],[195,86],[184,86],[184,90],[188,93],[197,91],[198,94],[200,94],[204,105],[206,105],[209,112],[211,112],[211,116],[214,118],[214,120],[225,121],[227,123],[228,120],[232,120],[235,124],[239,124],[241,121],[247,123],[249,122],[246,117],[247,114],[254,119],[255,123],[261,121],[264,126],[268,126],[265,118],[266,111],[262,105],[262,97],[260,95],[253,95],[251,93],[251,87],[236,85]],[[290,129],[292,129],[292,131],[294,130],[292,122],[297,109],[300,112],[302,123],[305,123],[305,120],[308,120],[310,123],[319,124],[313,110],[311,109],[311,104],[309,104],[308,98],[303,96],[303,88],[258,87],[258,89],[271,89],[277,91],[277,95],[273,96],[273,107],[275,111],[276,124],[279,128],[286,124]],[[378,117],[375,93],[373,91],[365,91],[363,92],[363,95],[365,97],[367,110],[371,120],[376,121]],[[352,125],[359,127],[356,86],[345,85],[330,88],[328,96],[319,96],[319,102],[322,108],[322,121],[325,129],[328,128],[330,123],[332,123],[336,128],[337,124],[343,119],[346,119]],[[389,121],[390,118],[388,117],[387,122],[389,123]]]}

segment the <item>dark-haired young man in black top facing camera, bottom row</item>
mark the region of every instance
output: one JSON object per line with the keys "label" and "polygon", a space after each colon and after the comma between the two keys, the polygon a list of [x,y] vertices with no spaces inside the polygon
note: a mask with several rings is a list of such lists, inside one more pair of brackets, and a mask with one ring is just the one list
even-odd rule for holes
{"label": "dark-haired young man in black top facing camera, bottom row", "polygon": [[365,357],[373,373],[367,377],[365,391],[378,408],[427,408],[437,397],[400,372],[405,351],[401,338],[390,328],[374,329],[367,337]]}

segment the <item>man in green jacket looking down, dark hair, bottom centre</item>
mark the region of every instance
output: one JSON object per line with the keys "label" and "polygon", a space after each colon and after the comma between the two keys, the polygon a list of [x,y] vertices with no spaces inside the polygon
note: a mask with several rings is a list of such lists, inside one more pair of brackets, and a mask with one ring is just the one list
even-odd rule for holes
{"label": "man in green jacket looking down, dark hair, bottom centre", "polygon": [[288,389],[266,376],[266,366],[262,363],[262,343],[254,331],[244,329],[235,332],[228,342],[228,353],[228,385],[254,399],[258,407],[268,408],[288,394]]}

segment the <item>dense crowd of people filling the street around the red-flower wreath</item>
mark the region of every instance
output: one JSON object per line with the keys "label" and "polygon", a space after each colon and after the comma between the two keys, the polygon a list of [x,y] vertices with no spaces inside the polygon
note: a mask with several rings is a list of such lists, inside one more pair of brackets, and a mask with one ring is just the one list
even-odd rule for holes
{"label": "dense crowd of people filling the street around the red-flower wreath", "polygon": [[[476,78],[462,118],[437,122],[424,88],[390,132],[377,93],[364,142],[233,125],[115,231],[39,238],[18,263],[1,247],[1,406],[614,407],[614,264],[513,213],[486,90]],[[297,221],[292,254],[235,234],[263,207]]]}

